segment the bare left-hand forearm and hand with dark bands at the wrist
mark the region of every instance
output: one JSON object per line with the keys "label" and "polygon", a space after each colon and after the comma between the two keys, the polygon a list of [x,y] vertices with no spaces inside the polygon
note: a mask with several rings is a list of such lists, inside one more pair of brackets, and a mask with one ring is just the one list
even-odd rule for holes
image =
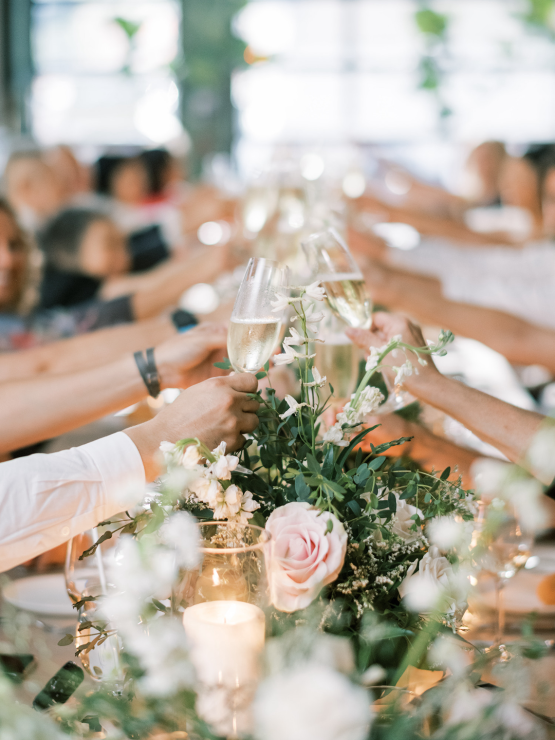
{"label": "bare left-hand forearm and hand with dark bands at the wrist", "polygon": [[[226,345],[225,328],[204,324],[159,345],[162,388],[209,378]],[[76,373],[0,384],[0,453],[41,442],[137,403],[147,395],[132,354]]]}

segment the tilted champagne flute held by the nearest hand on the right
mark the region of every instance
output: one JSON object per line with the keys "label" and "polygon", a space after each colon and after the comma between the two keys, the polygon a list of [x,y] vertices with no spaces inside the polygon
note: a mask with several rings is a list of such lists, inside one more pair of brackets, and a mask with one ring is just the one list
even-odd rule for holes
{"label": "tilted champagne flute held by the nearest hand on the right", "polygon": [[372,325],[372,301],[364,277],[347,244],[332,227],[312,234],[303,248],[315,275],[326,288],[331,310],[355,329]]}

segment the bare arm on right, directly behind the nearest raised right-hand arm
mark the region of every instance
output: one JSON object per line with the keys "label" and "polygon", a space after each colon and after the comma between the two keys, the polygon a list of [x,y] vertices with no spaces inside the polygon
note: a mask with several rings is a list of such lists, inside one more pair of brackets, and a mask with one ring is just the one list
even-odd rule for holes
{"label": "bare arm on right, directly behind the nearest raised right-hand arm", "polygon": [[408,313],[423,324],[476,339],[516,365],[543,365],[555,373],[555,332],[517,316],[445,298],[435,278],[367,263],[363,273],[374,303]]}

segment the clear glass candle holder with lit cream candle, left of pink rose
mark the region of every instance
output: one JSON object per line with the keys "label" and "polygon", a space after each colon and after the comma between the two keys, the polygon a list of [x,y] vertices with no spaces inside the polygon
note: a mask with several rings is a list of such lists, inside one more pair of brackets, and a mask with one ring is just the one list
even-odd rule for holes
{"label": "clear glass candle holder with lit cream candle, left of pink rose", "polygon": [[237,522],[198,526],[202,561],[181,573],[172,608],[182,612],[191,644],[199,715],[217,734],[236,737],[252,729],[269,600],[270,535]]}

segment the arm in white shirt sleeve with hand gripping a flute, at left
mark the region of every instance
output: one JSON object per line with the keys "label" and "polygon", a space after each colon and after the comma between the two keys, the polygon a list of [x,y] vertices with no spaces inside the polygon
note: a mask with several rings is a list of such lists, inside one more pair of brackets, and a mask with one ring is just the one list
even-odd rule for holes
{"label": "arm in white shirt sleeve with hand gripping a flute, at left", "polygon": [[0,464],[0,571],[40,555],[125,510],[158,472],[160,442],[198,437],[242,445],[257,424],[252,375],[184,391],[152,421],[82,447]]}

